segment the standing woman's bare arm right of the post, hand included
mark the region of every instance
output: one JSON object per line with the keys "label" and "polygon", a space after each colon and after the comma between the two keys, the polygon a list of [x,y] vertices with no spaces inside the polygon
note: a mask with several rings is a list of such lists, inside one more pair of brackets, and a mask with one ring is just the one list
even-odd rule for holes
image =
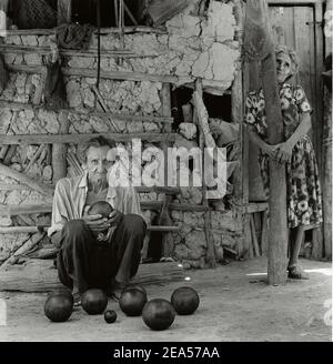
{"label": "standing woman's bare arm right of the post, hand included", "polygon": [[311,117],[309,112],[300,114],[301,122],[293,134],[287,141],[281,143],[278,146],[278,160],[282,163],[289,162],[292,156],[292,151],[295,144],[307,134],[311,129]]}

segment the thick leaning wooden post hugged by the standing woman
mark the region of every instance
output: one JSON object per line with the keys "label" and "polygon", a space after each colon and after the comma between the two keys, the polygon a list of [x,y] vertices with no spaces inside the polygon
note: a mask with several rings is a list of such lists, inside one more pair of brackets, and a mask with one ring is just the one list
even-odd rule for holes
{"label": "thick leaning wooden post hugged by the standing woman", "polygon": [[[283,141],[283,121],[266,1],[248,0],[245,29],[246,26],[246,51],[260,59],[262,64],[269,143],[274,145]],[[273,160],[270,160],[269,236],[269,284],[284,284],[287,252],[285,164],[279,164]]]}

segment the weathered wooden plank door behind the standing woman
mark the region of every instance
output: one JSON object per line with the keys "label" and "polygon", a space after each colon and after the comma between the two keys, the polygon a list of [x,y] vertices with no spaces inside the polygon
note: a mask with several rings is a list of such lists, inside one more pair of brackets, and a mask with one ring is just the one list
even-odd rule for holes
{"label": "weathered wooden plank door behind the standing woman", "polygon": [[[309,2],[309,1],[307,1]],[[322,165],[323,130],[323,88],[321,72],[323,64],[323,14],[322,3],[313,1],[296,4],[289,1],[284,4],[270,6],[270,20],[275,44],[285,44],[294,49],[300,59],[300,74],[295,82],[304,88],[313,108],[311,138],[317,162]],[[321,173],[322,175],[322,173]]]}

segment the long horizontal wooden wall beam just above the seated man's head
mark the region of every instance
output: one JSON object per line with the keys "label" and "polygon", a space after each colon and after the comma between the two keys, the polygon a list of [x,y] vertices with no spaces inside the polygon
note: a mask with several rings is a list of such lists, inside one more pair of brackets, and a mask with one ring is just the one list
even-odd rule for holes
{"label": "long horizontal wooden wall beam just above the seated man's head", "polygon": [[24,134],[24,135],[0,135],[0,144],[53,144],[53,143],[83,143],[92,138],[104,136],[114,142],[131,142],[132,139],[142,139],[150,142],[175,141],[175,133],[87,133],[87,134]]}

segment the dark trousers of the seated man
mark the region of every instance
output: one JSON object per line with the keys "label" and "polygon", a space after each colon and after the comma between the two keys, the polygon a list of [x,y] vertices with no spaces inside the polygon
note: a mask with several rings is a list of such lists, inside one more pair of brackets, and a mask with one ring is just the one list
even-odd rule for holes
{"label": "dark trousers of the seated man", "polygon": [[70,289],[74,283],[80,293],[109,290],[114,280],[127,284],[138,272],[145,230],[140,215],[127,214],[109,241],[98,242],[83,221],[69,221],[61,231],[60,282]]}

